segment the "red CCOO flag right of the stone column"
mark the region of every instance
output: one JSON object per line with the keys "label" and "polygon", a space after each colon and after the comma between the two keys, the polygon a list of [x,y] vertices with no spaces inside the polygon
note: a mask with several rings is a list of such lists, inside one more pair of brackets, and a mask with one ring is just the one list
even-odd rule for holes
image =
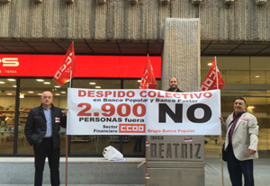
{"label": "red CCOO flag right of the stone column", "polygon": [[[216,76],[218,76],[218,79],[216,79]],[[217,84],[217,82],[219,82],[219,84]],[[216,58],[213,58],[211,62],[211,68],[202,83],[200,91],[221,89],[224,85],[224,81],[220,75],[220,70],[218,66],[216,66]]]}

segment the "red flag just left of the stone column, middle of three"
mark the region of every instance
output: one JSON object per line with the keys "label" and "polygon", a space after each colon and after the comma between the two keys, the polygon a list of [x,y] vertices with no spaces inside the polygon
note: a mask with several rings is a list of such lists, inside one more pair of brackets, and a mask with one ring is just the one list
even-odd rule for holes
{"label": "red flag just left of the stone column, middle of three", "polygon": [[156,87],[157,81],[148,56],[147,63],[144,68],[144,73],[141,77],[141,82],[139,84],[139,89],[155,89]]}

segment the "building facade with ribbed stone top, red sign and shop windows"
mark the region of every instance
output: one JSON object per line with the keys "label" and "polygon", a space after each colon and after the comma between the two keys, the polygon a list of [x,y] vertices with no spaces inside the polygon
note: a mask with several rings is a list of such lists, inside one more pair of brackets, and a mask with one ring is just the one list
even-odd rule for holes
{"label": "building facade with ribbed stone top, red sign and shop windows", "polygon": [[[233,111],[235,97],[246,98],[247,111],[257,116],[260,127],[258,149],[269,150],[269,1],[0,0],[0,155],[33,154],[23,137],[23,122],[27,111],[40,104],[38,93],[51,89],[55,92],[55,104],[61,108],[67,106],[68,85],[55,87],[52,77],[53,69],[58,67],[72,41],[77,58],[86,64],[82,66],[91,64],[85,67],[88,73],[74,78],[73,87],[95,88],[95,83],[103,89],[136,89],[146,60],[143,57],[147,54],[155,70],[157,89],[168,87],[168,77],[161,76],[160,58],[169,47],[164,41],[166,18],[199,19],[201,83],[210,68],[208,63],[217,56],[226,84],[221,90],[221,115],[227,117]],[[181,58],[188,58],[189,52]],[[16,59],[18,55],[20,60]],[[23,61],[31,61],[23,71],[28,74],[14,71],[21,58],[25,59],[20,67],[26,66],[27,62]],[[4,65],[9,61],[14,61],[11,68]],[[135,71],[138,73],[132,74]],[[189,90],[183,76],[178,78],[179,88]],[[64,129],[61,134],[61,153],[65,154]],[[74,156],[100,156],[104,146],[113,145],[126,156],[144,156],[143,151],[134,152],[137,138],[69,137],[68,152]],[[209,142],[205,146],[206,156],[218,156],[219,138],[205,139]]]}

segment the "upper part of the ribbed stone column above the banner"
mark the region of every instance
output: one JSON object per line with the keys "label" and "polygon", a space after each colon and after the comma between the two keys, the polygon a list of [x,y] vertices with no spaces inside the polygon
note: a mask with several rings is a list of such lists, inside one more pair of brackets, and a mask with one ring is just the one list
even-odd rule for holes
{"label": "upper part of the ribbed stone column above the banner", "polygon": [[201,86],[201,40],[199,19],[167,18],[162,54],[161,89],[169,88],[175,76],[184,92],[199,91]]}

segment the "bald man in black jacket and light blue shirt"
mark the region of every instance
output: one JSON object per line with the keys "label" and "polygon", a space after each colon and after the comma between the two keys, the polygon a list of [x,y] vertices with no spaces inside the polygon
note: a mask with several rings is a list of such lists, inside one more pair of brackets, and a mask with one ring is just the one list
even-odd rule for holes
{"label": "bald man in black jacket and light blue shirt", "polygon": [[49,91],[42,93],[41,105],[29,112],[24,134],[29,144],[33,145],[35,155],[35,186],[41,186],[46,156],[49,160],[50,183],[60,184],[59,159],[60,139],[59,126],[66,128],[67,117],[58,107],[52,104],[53,95]]}

